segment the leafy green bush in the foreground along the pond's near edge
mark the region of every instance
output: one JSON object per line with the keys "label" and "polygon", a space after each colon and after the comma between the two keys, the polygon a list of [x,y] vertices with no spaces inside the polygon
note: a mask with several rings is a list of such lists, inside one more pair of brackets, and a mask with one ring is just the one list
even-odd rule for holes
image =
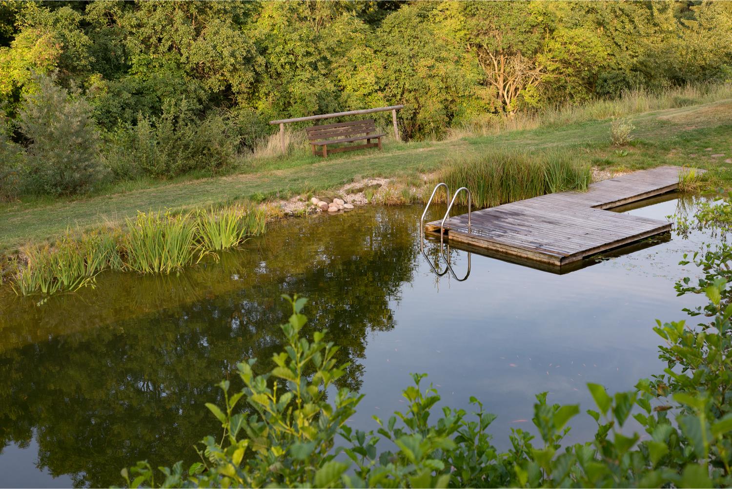
{"label": "leafy green bush in the foreground along the pond's near edge", "polygon": [[[635,389],[611,396],[587,384],[597,410],[594,440],[568,446],[568,422],[578,405],[550,404],[537,395],[532,421],[539,438],[512,430],[511,447],[499,452],[488,428],[495,416],[477,399],[477,411],[442,408],[436,389],[422,388],[424,375],[403,391],[408,409],[384,421],[376,433],[348,427],[363,395],[335,392],[333,381],[347,365],[335,365],[337,346],[325,332],[313,341],[300,336],[306,299],[290,299],[293,314],[282,329],[287,345],[273,360],[275,368],[255,373],[255,359],[240,363],[244,389],[219,384],[224,406],[206,404],[223,436],[203,439],[201,463],[184,471],[182,463],[160,468],[157,478],[146,462],[123,469],[131,487],[728,487],[732,485],[732,414],[729,386],[732,296],[725,275],[732,248],[695,256],[705,275],[697,285],[685,279],[679,294],[706,294],[709,303],[692,316],[705,316],[698,327],[684,321],[658,323],[665,341],[660,358],[668,368]],[[333,395],[329,402],[329,395]],[[653,406],[654,403],[656,406]],[[244,410],[237,408],[244,404]],[[622,428],[634,417],[646,430],[628,435]],[[335,447],[336,436],[343,446]],[[380,449],[386,441],[387,447]]]}

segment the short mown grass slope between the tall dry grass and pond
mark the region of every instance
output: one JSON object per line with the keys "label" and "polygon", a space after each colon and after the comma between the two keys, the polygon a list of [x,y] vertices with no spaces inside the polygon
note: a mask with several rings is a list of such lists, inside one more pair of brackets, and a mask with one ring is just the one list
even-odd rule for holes
{"label": "short mown grass slope between the tall dry grass and pond", "polygon": [[[23,242],[40,241],[68,227],[91,228],[119,223],[138,210],[190,209],[244,198],[287,197],[326,190],[366,176],[400,176],[434,171],[441,162],[468,152],[490,152],[507,146],[530,151],[567,147],[587,153],[600,168],[638,169],[654,165],[694,165],[713,168],[732,182],[732,100],[653,111],[632,116],[635,141],[627,154],[610,147],[609,122],[556,124],[534,130],[431,143],[392,143],[383,152],[336,154],[327,160],[312,156],[260,161],[241,173],[168,184],[124,186],[107,195],[75,200],[0,204],[0,251]],[[712,148],[712,151],[705,151]],[[724,154],[712,158],[712,154]],[[130,185],[127,185],[127,189]]]}

